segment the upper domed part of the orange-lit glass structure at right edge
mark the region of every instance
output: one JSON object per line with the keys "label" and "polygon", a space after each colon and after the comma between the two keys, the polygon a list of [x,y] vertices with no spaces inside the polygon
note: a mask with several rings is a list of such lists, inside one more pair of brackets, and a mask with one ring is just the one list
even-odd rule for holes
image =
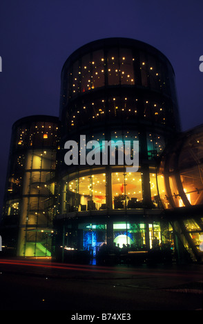
{"label": "upper domed part of the orange-lit glass structure at right edge", "polygon": [[163,155],[157,180],[166,209],[203,204],[203,131],[188,132]]}

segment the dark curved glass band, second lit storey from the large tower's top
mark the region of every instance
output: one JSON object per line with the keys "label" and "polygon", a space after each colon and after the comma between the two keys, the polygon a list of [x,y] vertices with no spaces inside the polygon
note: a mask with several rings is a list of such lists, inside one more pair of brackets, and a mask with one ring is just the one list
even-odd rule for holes
{"label": "dark curved glass band, second lit storey from the large tower's top", "polygon": [[171,103],[167,100],[142,99],[134,96],[108,99],[103,96],[99,99],[84,98],[70,103],[66,113],[66,128],[68,132],[75,131],[86,123],[104,123],[106,118],[120,120],[144,119],[162,125],[175,125],[175,116],[170,109]]}

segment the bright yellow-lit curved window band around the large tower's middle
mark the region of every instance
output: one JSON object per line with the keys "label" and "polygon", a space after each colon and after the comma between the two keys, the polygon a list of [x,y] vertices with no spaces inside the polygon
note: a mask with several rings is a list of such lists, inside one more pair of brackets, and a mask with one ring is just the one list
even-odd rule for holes
{"label": "bright yellow-lit curved window band around the large tower's middle", "polygon": [[[88,169],[68,174],[64,177],[62,190],[62,214],[88,210],[135,209],[143,208],[144,179],[142,172],[124,172],[112,168],[106,176],[105,168]],[[152,207],[159,206],[156,174],[149,173],[149,186]],[[110,192],[111,203],[107,204],[106,195]]]}

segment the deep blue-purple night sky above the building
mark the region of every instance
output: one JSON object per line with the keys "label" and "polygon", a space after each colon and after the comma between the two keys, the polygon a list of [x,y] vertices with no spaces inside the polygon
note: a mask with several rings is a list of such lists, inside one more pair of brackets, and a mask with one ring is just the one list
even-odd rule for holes
{"label": "deep blue-purple night sky above the building", "polygon": [[90,41],[128,37],[163,52],[175,70],[182,130],[203,123],[202,14],[202,0],[1,0],[0,207],[12,124],[58,116],[62,66]]}

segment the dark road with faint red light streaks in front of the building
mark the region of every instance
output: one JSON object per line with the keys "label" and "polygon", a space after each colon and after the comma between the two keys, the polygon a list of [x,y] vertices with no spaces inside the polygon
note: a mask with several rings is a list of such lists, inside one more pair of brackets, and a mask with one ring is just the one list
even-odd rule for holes
{"label": "dark road with faint red light streaks in front of the building", "polygon": [[203,265],[98,267],[0,259],[0,310],[64,311],[66,316],[202,310],[202,270]]}

